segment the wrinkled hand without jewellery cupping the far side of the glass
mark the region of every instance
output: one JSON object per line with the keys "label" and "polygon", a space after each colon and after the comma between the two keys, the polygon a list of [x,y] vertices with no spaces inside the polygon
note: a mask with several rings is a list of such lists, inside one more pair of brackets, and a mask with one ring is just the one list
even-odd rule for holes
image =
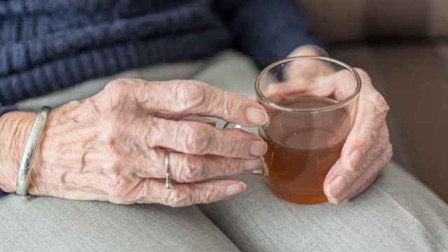
{"label": "wrinkled hand without jewellery cupping the far side of the glass", "polygon": [[[290,56],[319,55],[309,47],[300,47]],[[338,204],[356,197],[377,178],[391,160],[393,147],[386,123],[388,104],[374,88],[370,76],[355,68],[362,83],[358,113],[342,148],[341,157],[325,176],[324,191],[328,201]],[[297,61],[286,72],[282,85],[270,85],[267,95],[274,102],[297,97],[297,94],[347,99],[354,90],[349,71],[335,71],[320,61]]]}

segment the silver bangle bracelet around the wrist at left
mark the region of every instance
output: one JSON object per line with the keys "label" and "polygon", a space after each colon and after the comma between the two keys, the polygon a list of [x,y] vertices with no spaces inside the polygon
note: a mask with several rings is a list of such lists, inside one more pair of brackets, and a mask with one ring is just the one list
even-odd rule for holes
{"label": "silver bangle bracelet around the wrist at left", "polygon": [[15,193],[25,196],[28,194],[29,175],[31,174],[31,161],[33,160],[34,151],[38,146],[38,142],[41,139],[43,127],[50,113],[50,108],[47,106],[42,107],[34,120],[31,131],[29,132],[27,144],[25,145],[25,151],[20,162],[19,174],[17,178],[17,186]]}

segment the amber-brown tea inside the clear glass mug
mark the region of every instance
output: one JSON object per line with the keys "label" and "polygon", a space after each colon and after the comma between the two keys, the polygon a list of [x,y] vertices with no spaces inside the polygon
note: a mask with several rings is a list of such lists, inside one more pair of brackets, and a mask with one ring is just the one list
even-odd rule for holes
{"label": "amber-brown tea inside the clear glass mug", "polygon": [[[307,109],[335,103],[329,98],[301,97],[279,104]],[[260,130],[268,145],[265,165],[272,193],[301,204],[327,201],[323,181],[339,158],[349,130],[348,113],[343,108],[318,114],[273,113],[268,129]]]}

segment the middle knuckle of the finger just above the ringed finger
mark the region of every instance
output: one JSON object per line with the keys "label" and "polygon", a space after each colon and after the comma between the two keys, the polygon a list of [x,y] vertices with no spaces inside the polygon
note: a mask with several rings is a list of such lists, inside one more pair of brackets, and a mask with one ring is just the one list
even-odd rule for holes
{"label": "middle knuckle of the finger just above the ringed finger", "polygon": [[214,134],[209,127],[204,127],[200,123],[185,123],[181,127],[180,136],[184,136],[185,150],[191,150],[193,153],[206,154],[214,140]]}

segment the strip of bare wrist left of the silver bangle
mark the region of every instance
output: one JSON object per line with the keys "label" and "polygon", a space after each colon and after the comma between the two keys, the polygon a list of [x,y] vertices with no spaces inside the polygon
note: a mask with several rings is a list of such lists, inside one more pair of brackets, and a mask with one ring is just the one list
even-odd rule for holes
{"label": "strip of bare wrist left of the silver bangle", "polygon": [[0,189],[5,192],[15,192],[20,160],[35,118],[36,113],[31,112],[10,112],[0,117]]}

